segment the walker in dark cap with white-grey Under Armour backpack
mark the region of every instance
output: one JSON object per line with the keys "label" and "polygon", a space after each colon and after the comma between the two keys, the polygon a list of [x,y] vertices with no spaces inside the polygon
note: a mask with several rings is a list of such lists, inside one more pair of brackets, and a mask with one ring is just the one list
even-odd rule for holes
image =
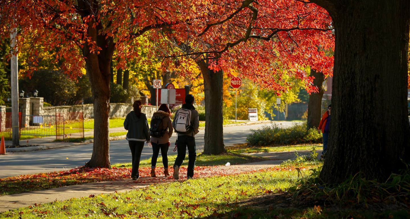
{"label": "walker in dark cap with white-grey Under Armour backpack", "polygon": [[196,147],[195,147],[195,135],[199,132],[199,117],[198,111],[192,105],[194,103],[194,96],[187,95],[185,97],[185,104],[175,112],[172,126],[176,133],[177,138],[177,158],[174,163],[173,178],[179,179],[179,168],[185,159],[185,154],[188,148],[188,170],[187,179],[194,176],[194,166],[196,160]]}

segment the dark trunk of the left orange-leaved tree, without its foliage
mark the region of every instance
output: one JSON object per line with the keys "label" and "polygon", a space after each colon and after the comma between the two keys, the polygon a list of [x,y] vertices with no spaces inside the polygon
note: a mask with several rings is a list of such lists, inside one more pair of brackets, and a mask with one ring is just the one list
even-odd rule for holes
{"label": "dark trunk of the left orange-leaved tree, without its foliage", "polygon": [[[98,14],[98,2],[78,0],[78,7],[82,9],[82,17]],[[103,29],[101,22],[88,20],[87,35],[97,42],[100,54],[90,52],[90,46],[83,48],[87,74],[90,79],[94,104],[94,143],[93,154],[85,166],[110,168],[109,162],[109,83],[111,81],[111,60],[114,54],[112,37],[100,33]]]}

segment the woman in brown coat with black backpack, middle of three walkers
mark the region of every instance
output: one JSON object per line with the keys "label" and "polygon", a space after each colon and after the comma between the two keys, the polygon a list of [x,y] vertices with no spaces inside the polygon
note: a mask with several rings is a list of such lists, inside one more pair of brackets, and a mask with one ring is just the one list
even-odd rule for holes
{"label": "woman in brown coat with black backpack, middle of three walkers", "polygon": [[151,143],[153,145],[153,157],[151,158],[151,177],[156,177],[155,166],[159,150],[161,150],[162,164],[164,164],[164,175],[169,176],[168,172],[168,148],[169,138],[172,136],[171,111],[166,104],[161,104],[158,111],[151,118]]}

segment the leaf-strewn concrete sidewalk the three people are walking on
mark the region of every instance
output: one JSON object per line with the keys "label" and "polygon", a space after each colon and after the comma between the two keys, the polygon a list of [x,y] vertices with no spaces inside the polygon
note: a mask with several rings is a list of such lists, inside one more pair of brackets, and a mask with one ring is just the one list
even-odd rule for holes
{"label": "leaf-strewn concrete sidewalk the three people are walking on", "polygon": [[[269,153],[270,154],[270,153]],[[272,154],[270,154],[272,155]],[[262,154],[260,154],[262,157]],[[226,174],[239,174],[249,171],[258,171],[266,168],[278,166],[285,159],[288,159],[288,155],[278,155],[275,160],[267,160],[248,164],[239,164],[232,166],[217,166],[212,168],[217,173]],[[171,170],[172,172],[172,170]],[[172,173],[170,173],[172,176]],[[180,172],[180,176],[183,179],[185,173]],[[6,196],[0,196],[0,212],[16,209],[19,207],[27,207],[29,205],[48,203],[52,201],[67,200],[70,198],[88,197],[91,194],[109,194],[114,192],[124,192],[133,189],[141,189],[148,187],[155,183],[167,183],[173,182],[171,177],[156,177],[156,178],[140,178],[138,180],[117,180],[109,182],[97,182],[73,185],[68,187],[60,187],[55,189],[46,189],[41,191],[25,192],[21,194],[12,194]]]}

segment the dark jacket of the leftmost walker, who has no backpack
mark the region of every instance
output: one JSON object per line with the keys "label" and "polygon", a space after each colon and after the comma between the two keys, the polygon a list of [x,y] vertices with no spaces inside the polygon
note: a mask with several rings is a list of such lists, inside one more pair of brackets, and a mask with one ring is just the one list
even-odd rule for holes
{"label": "dark jacket of the leftmost walker, who has no backpack", "polygon": [[128,141],[150,141],[150,127],[145,113],[141,113],[139,118],[134,111],[128,113],[124,121],[124,129],[128,130]]}

